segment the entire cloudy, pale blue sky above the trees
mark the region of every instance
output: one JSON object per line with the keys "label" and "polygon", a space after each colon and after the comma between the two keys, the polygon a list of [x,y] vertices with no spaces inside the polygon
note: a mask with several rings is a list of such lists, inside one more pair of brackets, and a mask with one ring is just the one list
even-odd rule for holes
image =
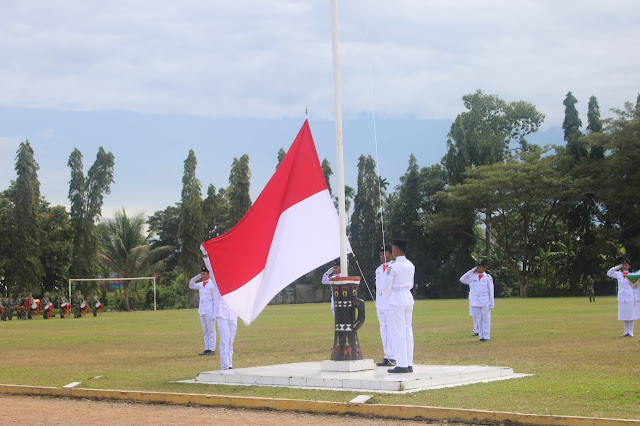
{"label": "entire cloudy, pale blue sky above the trees", "polygon": [[[349,0],[338,16],[353,187],[362,154],[392,186],[412,153],[439,163],[478,89],[533,103],[540,145],[563,143],[568,91],[585,126],[590,96],[606,118],[640,91],[636,0]],[[255,200],[307,117],[336,170],[329,0],[2,0],[0,57],[0,190],[28,139],[52,204],[69,205],[73,149],[86,172],[100,146],[115,156],[104,217],[179,202],[190,149],[203,194],[248,154]]]}

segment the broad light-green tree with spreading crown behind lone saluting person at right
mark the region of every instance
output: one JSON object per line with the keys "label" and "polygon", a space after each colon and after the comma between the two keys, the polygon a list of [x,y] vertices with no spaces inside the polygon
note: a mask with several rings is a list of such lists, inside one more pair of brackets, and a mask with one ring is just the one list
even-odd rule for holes
{"label": "broad light-green tree with spreading crown behind lone saluting person at right", "polygon": [[563,176],[545,151],[520,153],[505,163],[470,169],[463,184],[449,195],[476,213],[492,212],[491,224],[497,249],[518,277],[520,296],[527,296],[535,258],[557,234],[564,204],[578,196],[581,182]]}

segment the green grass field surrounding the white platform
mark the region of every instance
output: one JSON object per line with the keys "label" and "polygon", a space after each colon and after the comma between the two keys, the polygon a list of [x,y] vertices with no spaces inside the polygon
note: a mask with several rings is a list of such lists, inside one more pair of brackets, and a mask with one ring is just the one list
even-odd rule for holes
{"label": "green grass field surrounding the white platform", "polygon": [[[359,331],[365,358],[382,357],[375,307]],[[420,300],[413,314],[415,364],[508,366],[534,376],[407,395],[375,403],[520,413],[640,418],[640,324],[619,338],[614,297],[498,299],[491,341],[471,335],[467,300]],[[238,325],[235,368],[329,358],[328,304],[268,306]],[[176,384],[220,367],[199,357],[195,309],[0,323],[0,383],[349,401],[357,394],[287,388]],[[102,376],[100,379],[93,379]]]}

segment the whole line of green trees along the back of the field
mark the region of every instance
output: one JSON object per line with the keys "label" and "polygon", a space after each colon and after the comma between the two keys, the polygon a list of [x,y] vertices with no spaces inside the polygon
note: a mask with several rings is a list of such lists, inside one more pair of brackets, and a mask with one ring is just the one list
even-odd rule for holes
{"label": "whole line of green trees along the back of the field", "polygon": [[[610,291],[606,269],[620,256],[640,260],[640,95],[607,119],[592,96],[583,129],[569,92],[564,140],[545,147],[527,141],[544,121],[531,103],[480,90],[462,100],[465,111],[451,124],[440,163],[420,167],[411,154],[398,185],[389,188],[371,156],[358,159],[357,186],[345,191],[357,256],[350,273],[361,269],[373,288],[382,242],[404,238],[418,297],[463,296],[458,278],[480,258],[489,262],[498,296],[579,295],[587,275],[601,281],[601,292]],[[276,168],[285,154],[278,151]],[[85,176],[82,158],[77,149],[69,157],[67,212],[41,196],[33,149],[28,140],[20,144],[16,179],[0,193],[6,290],[38,294],[61,288],[70,277],[163,271],[166,304],[193,304],[186,280],[201,267],[200,244],[227,232],[251,207],[249,156],[233,159],[228,185],[211,184],[203,195],[190,150],[181,200],[146,220],[124,210],[102,219],[115,159],[101,147]],[[327,159],[322,170],[332,192]],[[299,281],[318,283],[325,270]],[[128,284],[121,302],[126,310],[127,292]]]}

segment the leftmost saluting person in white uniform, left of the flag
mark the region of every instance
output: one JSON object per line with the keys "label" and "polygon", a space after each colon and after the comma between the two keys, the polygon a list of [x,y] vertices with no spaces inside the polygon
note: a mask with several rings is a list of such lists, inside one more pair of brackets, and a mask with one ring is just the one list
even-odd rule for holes
{"label": "leftmost saluting person in white uniform, left of the flag", "polygon": [[[197,282],[201,280],[200,282]],[[189,288],[198,290],[200,293],[200,303],[198,304],[198,314],[204,333],[204,351],[198,355],[215,355],[216,353],[216,305],[219,295],[218,288],[211,280],[209,270],[202,267],[202,272],[191,278]]]}

